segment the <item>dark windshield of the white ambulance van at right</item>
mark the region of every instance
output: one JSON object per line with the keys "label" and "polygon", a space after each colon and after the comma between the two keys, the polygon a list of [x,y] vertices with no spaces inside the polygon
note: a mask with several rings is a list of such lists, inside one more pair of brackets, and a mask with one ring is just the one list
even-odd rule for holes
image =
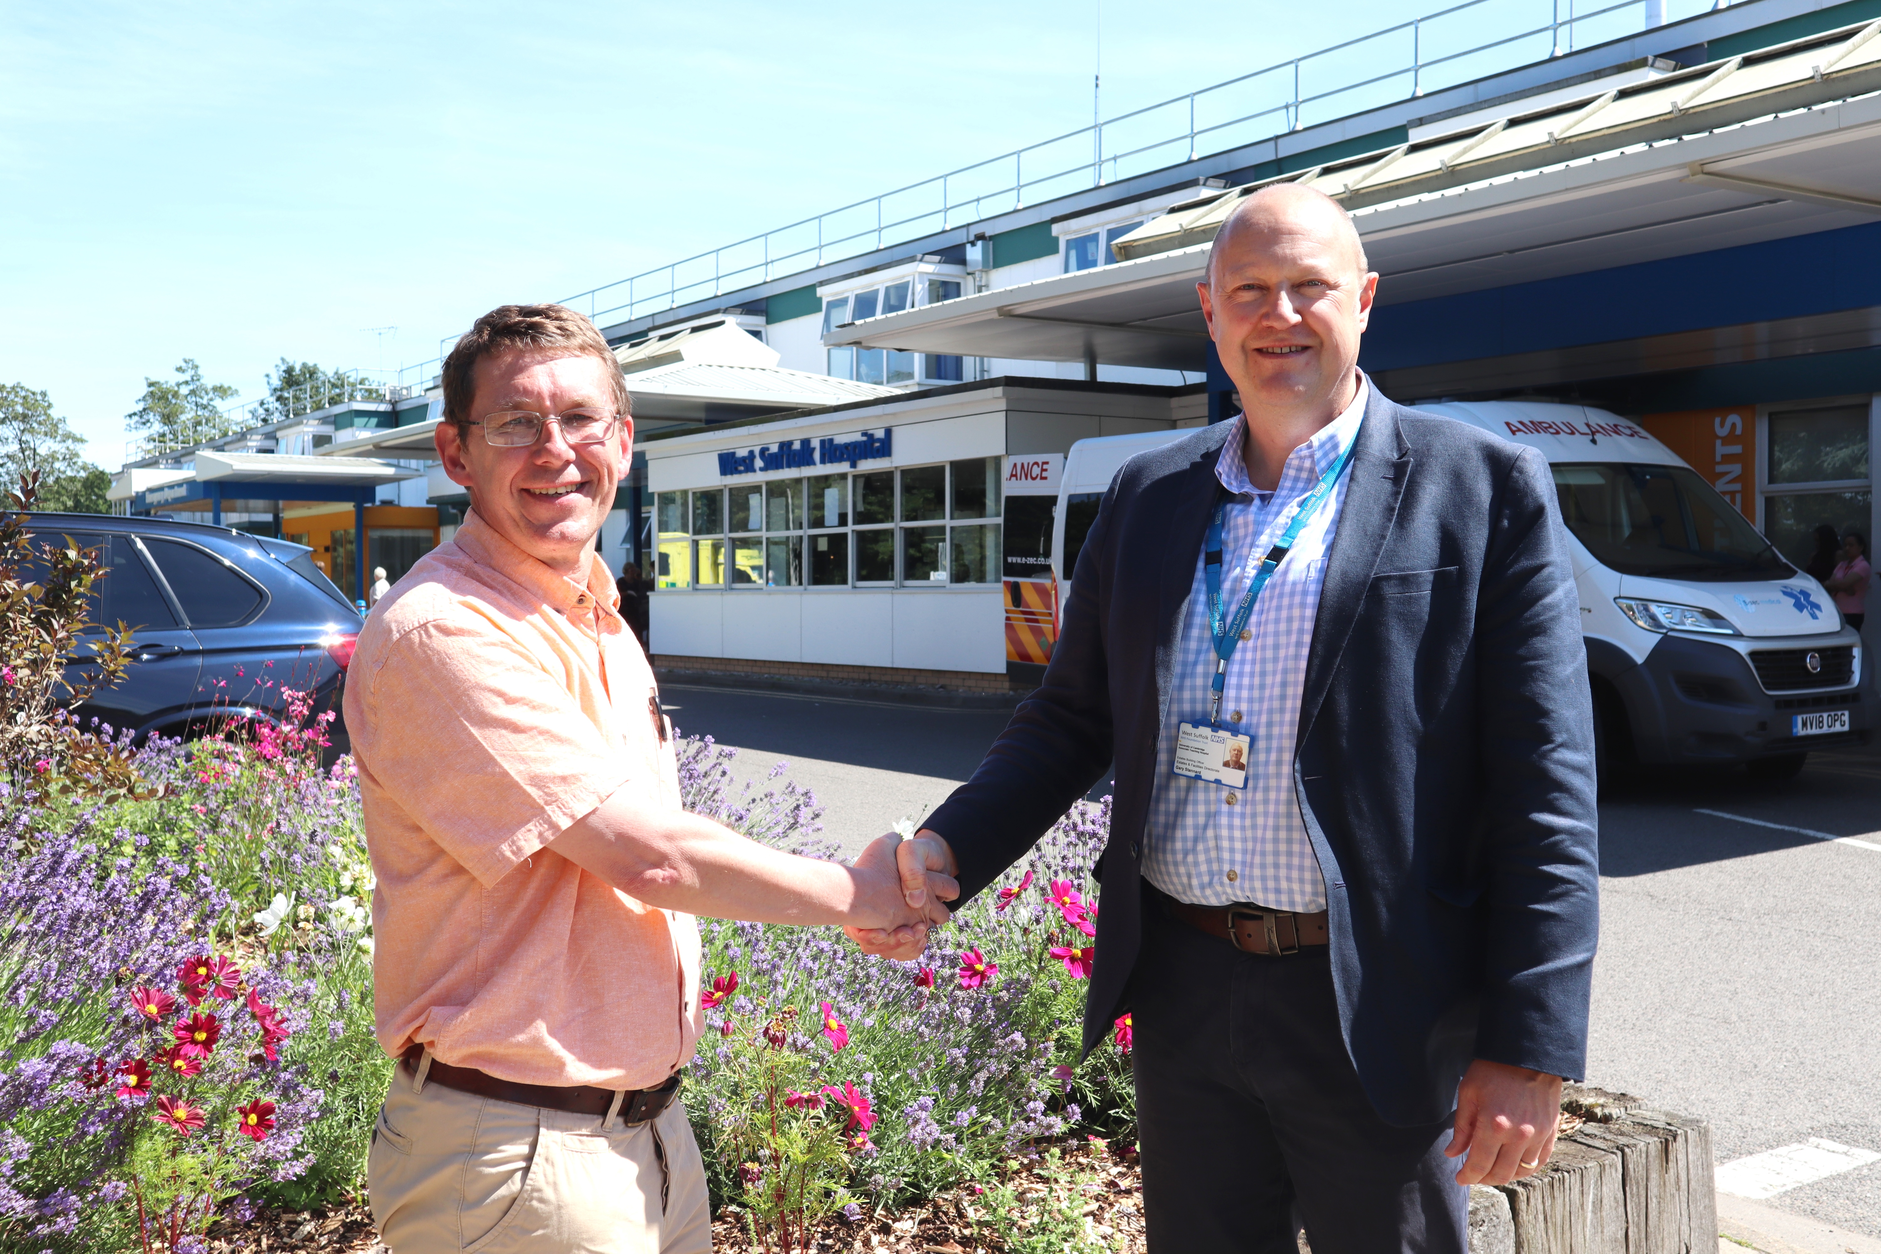
{"label": "dark windshield of the white ambulance van at right", "polygon": [[1689,466],[1554,466],[1561,521],[1601,566],[1659,579],[1791,579],[1793,570]]}

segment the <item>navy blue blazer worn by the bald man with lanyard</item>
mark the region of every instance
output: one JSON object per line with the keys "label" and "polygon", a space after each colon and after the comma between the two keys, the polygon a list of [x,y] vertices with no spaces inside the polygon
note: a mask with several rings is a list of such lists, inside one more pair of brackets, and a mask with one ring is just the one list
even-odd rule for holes
{"label": "navy blue blazer worn by the bald man with lanyard", "polygon": [[[1115,763],[1087,1051],[1129,1010],[1157,735],[1236,429],[1117,472],[1044,682],[925,822],[965,901]],[[1381,1117],[1430,1122],[1477,1057],[1584,1074],[1599,872],[1580,598],[1539,451],[1371,387],[1349,474],[1294,793],[1352,1064]]]}

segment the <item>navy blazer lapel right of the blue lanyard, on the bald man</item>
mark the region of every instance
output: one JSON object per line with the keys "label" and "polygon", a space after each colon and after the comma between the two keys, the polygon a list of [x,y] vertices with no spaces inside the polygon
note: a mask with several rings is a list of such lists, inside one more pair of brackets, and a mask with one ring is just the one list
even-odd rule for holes
{"label": "navy blazer lapel right of the blue lanyard, on the bald man", "polygon": [[1345,504],[1339,508],[1339,530],[1326,556],[1326,579],[1319,594],[1319,613],[1313,619],[1313,645],[1305,660],[1305,686],[1300,694],[1300,729],[1294,745],[1305,743],[1305,733],[1319,714],[1339,654],[1352,634],[1352,619],[1366,598],[1366,585],[1377,570],[1379,555],[1398,519],[1405,479],[1411,476],[1411,449],[1398,432],[1398,406],[1366,380],[1366,421],[1358,427],[1358,447],[1352,451],[1351,483],[1345,485]]}

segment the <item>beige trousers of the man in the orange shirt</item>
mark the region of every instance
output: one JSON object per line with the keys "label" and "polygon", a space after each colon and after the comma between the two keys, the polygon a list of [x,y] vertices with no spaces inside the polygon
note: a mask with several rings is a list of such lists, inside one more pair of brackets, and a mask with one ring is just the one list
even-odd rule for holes
{"label": "beige trousers of the man in the orange shirt", "polygon": [[619,1117],[604,1128],[423,1083],[401,1062],[367,1183],[393,1254],[711,1250],[705,1164],[681,1102],[638,1128]]}

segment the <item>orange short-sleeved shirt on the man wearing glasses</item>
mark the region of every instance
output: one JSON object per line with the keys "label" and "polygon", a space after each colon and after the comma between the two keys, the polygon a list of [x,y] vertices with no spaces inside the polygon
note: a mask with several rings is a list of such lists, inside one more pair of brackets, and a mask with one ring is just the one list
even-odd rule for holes
{"label": "orange short-sleeved shirt on the man wearing glasses", "polygon": [[378,1043],[534,1085],[692,1057],[700,936],[545,848],[626,792],[679,808],[672,724],[596,556],[577,585],[474,511],[380,600],[346,677]]}

